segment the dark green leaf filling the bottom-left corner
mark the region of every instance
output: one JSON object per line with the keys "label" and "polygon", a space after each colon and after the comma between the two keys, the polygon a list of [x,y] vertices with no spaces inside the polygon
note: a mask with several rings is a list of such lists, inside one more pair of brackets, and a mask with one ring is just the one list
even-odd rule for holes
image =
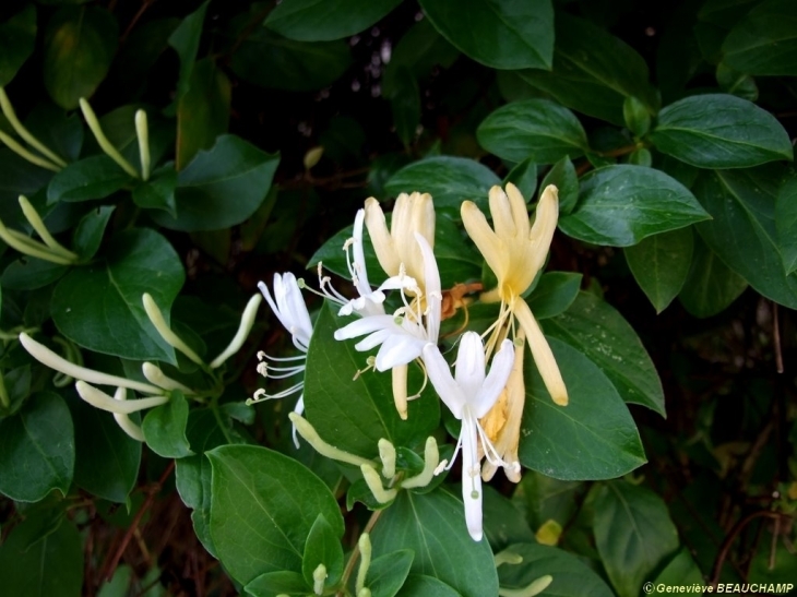
{"label": "dark green leaf filling the bottom-left corner", "polygon": [[[4,526],[4,525],[3,525]],[[15,527],[0,546],[3,593],[25,597],[74,597],[83,585],[83,541],[71,522],[31,545],[33,521]]]}

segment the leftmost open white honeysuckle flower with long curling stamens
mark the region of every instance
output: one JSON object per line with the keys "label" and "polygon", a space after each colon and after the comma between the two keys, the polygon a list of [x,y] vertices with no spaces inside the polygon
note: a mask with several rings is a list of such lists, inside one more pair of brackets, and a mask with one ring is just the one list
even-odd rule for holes
{"label": "leftmost open white honeysuckle flower with long curling stamens", "polygon": [[[312,323],[310,322],[310,313],[307,311],[305,299],[301,298],[301,289],[296,282],[296,276],[292,273],[274,274],[274,296],[272,297],[269,287],[263,283],[258,283],[258,288],[263,292],[265,301],[274,311],[274,314],[283,324],[283,327],[290,334],[294,346],[301,353],[295,357],[270,357],[262,350],[258,353],[258,372],[264,378],[282,380],[302,374],[302,379],[297,383],[277,392],[267,394],[261,389],[254,392],[254,395],[247,401],[247,404],[257,402],[284,398],[294,394],[299,394],[299,399],[294,407],[294,413],[301,415],[305,411],[305,361],[307,360],[307,350],[310,347],[310,337],[312,336]],[[263,360],[265,359],[265,360]],[[270,362],[277,365],[270,365]],[[299,441],[296,435],[296,426],[293,430],[294,443],[298,447]]]}

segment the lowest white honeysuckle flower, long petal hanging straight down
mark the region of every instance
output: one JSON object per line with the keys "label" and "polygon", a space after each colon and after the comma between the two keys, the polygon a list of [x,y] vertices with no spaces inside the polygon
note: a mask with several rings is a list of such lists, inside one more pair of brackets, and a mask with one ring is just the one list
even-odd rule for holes
{"label": "lowest white honeysuckle flower, long petal hanging straight down", "polygon": [[[456,354],[455,375],[451,375],[449,363],[440,354],[437,345],[424,347],[424,362],[435,390],[451,413],[462,421],[460,439],[451,463],[462,449],[462,501],[465,503],[465,522],[471,537],[481,540],[481,476],[480,450],[485,457],[503,465],[496,449],[487,438],[479,419],[484,417],[498,399],[507,384],[514,348],[512,342],[504,339],[492,359],[490,372],[485,375],[485,350],[481,338],[476,332],[465,332],[460,338]],[[451,466],[448,463],[448,467]]]}

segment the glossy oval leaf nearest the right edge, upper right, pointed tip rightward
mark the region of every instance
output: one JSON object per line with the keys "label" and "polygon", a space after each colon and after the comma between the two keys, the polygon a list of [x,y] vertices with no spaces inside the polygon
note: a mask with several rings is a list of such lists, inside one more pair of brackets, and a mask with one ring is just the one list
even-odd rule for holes
{"label": "glossy oval leaf nearest the right edge, upper right, pointed tip rightward", "polygon": [[788,133],[774,116],[726,94],[670,104],[659,112],[651,140],[662,153],[699,168],[747,168],[794,157]]}

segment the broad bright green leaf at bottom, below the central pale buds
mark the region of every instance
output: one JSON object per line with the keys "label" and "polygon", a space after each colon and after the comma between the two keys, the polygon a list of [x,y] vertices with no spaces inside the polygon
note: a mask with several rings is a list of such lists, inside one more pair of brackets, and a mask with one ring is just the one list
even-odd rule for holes
{"label": "broad bright green leaf at bottom, below the central pale buds", "polygon": [[319,514],[343,535],[337,502],[298,462],[253,445],[223,445],[206,454],[213,466],[211,535],[218,559],[239,583],[266,572],[300,572],[305,538]]}

